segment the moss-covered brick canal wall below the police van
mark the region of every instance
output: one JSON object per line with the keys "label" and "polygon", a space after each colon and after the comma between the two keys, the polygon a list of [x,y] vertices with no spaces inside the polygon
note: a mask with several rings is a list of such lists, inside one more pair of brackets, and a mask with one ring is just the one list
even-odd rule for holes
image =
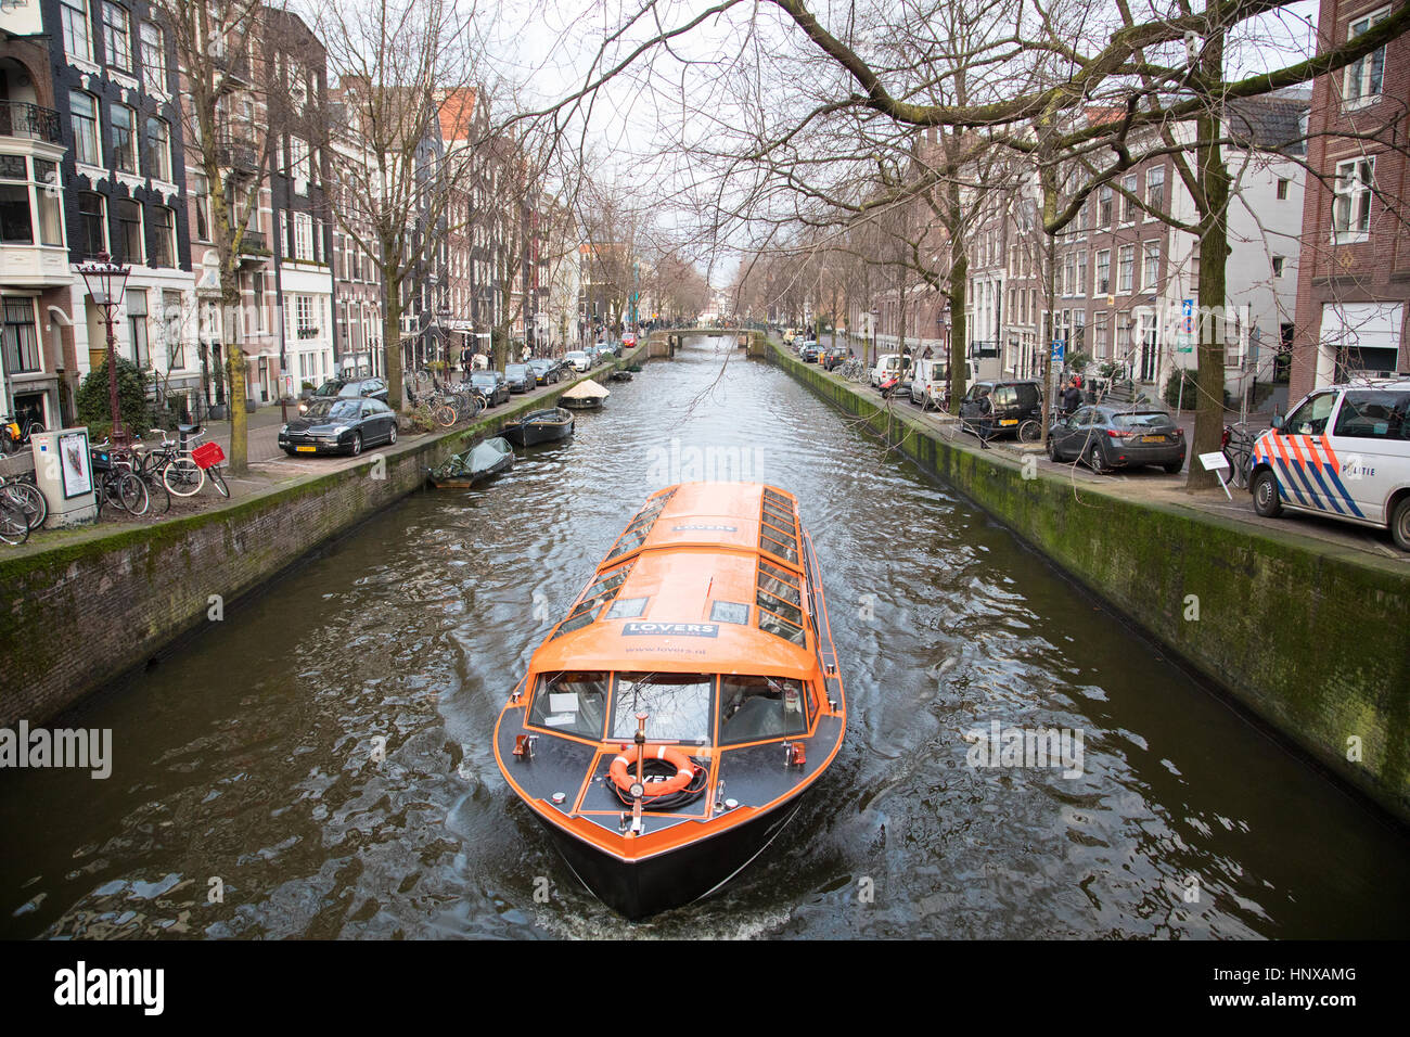
{"label": "moss-covered brick canal wall below the police van", "polygon": [[[909,404],[887,408],[777,344],[770,353],[814,394],[863,419],[1253,715],[1410,821],[1404,563],[1089,485],[1077,499],[1056,474],[1024,478],[998,451],[948,443]],[[1198,600],[1197,621],[1186,619],[1189,595]],[[1348,759],[1358,746],[1359,760]]]}

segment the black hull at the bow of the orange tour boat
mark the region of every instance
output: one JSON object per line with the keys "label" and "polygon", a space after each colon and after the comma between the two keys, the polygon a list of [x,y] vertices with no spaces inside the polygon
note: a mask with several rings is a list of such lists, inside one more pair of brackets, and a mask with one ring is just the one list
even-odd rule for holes
{"label": "black hull at the bow of the orange tour boat", "polygon": [[[747,865],[798,813],[802,797],[708,838],[630,863],[539,818],[588,890],[636,921],[697,900]],[[650,823],[650,818],[647,818]]]}

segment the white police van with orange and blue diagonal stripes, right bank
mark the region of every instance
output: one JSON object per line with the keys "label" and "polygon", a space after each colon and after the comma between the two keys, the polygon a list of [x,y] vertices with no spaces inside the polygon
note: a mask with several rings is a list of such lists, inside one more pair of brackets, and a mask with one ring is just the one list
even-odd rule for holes
{"label": "white police van with orange and blue diagonal stripes, right bank", "polygon": [[1285,509],[1390,529],[1410,550],[1410,378],[1308,394],[1253,444],[1253,511]]}

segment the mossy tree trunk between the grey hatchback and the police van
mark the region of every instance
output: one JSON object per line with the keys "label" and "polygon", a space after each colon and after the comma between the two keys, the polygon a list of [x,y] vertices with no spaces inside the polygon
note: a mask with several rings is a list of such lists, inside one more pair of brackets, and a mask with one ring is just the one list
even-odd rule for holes
{"label": "mossy tree trunk between the grey hatchback and the police van", "polygon": [[[1218,83],[1224,69],[1224,35],[1217,31],[1206,41],[1204,58],[1200,66],[1201,86]],[[1228,199],[1230,174],[1224,165],[1224,152],[1218,144],[1222,133],[1222,104],[1217,97],[1206,96],[1206,107],[1196,121],[1197,135],[1204,141],[1197,151],[1200,162],[1200,190],[1204,195],[1204,212],[1200,213],[1200,279],[1198,313],[1196,326],[1198,344],[1196,357],[1196,385],[1198,399],[1194,408],[1194,436],[1190,443],[1190,474],[1186,490],[1207,490],[1218,485],[1218,477],[1206,471],[1198,463],[1200,454],[1220,451],[1224,433],[1224,320],[1215,315],[1224,312],[1225,262],[1228,260]]]}

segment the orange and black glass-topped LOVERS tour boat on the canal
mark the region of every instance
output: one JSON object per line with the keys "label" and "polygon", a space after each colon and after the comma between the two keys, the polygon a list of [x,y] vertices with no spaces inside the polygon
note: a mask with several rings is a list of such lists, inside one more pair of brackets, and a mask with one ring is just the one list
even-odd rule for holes
{"label": "orange and black glass-topped LOVERS tour boat on the canal", "polygon": [[792,494],[653,494],[529,662],[495,759],[603,903],[640,918],[718,889],[842,746],[842,677]]}

